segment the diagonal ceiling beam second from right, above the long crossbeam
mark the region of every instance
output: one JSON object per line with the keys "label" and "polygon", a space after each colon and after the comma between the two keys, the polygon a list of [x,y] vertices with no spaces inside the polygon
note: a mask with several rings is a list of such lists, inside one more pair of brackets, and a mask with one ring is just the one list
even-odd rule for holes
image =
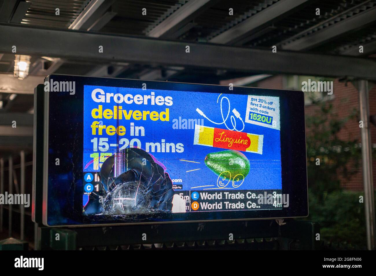
{"label": "diagonal ceiling beam second from right, above the long crossbeam", "polygon": [[281,17],[285,17],[294,12],[299,6],[308,3],[309,0],[280,0],[268,8],[252,15],[243,22],[235,25],[229,30],[215,36],[210,42],[218,44],[233,44],[244,39],[251,33],[273,24]]}

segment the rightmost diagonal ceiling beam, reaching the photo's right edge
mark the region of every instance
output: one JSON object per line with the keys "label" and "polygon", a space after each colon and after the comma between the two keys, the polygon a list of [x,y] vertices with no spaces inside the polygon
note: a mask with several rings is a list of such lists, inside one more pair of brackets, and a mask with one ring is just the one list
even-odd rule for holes
{"label": "rightmost diagonal ceiling beam, reaching the photo's right edge", "polygon": [[317,47],[327,41],[330,41],[347,32],[352,32],[360,29],[376,20],[376,6],[369,8],[364,12],[350,16],[347,19],[334,23],[318,32],[311,35],[303,36],[302,38],[291,41],[288,44],[282,45],[284,50],[302,51]]}

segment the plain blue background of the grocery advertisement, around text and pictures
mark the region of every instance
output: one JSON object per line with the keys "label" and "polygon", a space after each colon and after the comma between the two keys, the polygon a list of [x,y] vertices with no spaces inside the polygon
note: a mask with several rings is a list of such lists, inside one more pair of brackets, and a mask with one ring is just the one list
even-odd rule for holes
{"label": "plain blue background of the grocery advertisement, around text and pictures", "polygon": [[[132,95],[151,95],[151,92],[155,92],[155,97],[161,95],[163,97],[170,96],[173,99],[172,106],[158,106],[149,104],[127,104],[125,102],[116,104],[113,98],[110,103],[96,103],[91,98],[91,92],[94,89],[103,89],[105,93],[113,94],[132,94]],[[220,94],[215,93],[197,93],[189,91],[172,91],[172,90],[142,90],[135,88],[124,87],[106,87],[106,86],[84,86],[84,137],[83,137],[83,167],[84,172],[93,172],[93,164],[85,167],[92,162],[90,155],[93,153],[93,143],[91,140],[97,137],[108,138],[108,143],[117,143],[118,139],[127,138],[129,140],[137,138],[141,141],[141,148],[145,150],[145,144],[147,142],[159,142],[164,139],[165,143],[182,143],[184,145],[184,151],[182,153],[172,152],[149,152],[153,155],[157,161],[162,163],[166,167],[166,172],[173,179],[182,179],[181,182],[174,182],[174,184],[182,184],[182,190],[203,190],[207,188],[217,187],[218,175],[212,172],[204,163],[204,158],[208,153],[223,151],[224,149],[214,148],[202,145],[193,145],[194,141],[194,128],[193,129],[174,129],[173,119],[203,119],[203,125],[207,127],[216,127],[227,129],[224,124],[216,125],[203,118],[197,113],[196,108],[202,110],[205,115],[214,122],[222,122],[220,99],[225,96],[230,101],[230,115],[231,110],[235,108],[244,118],[246,116],[247,95],[234,95],[234,94]],[[217,100],[219,101],[217,103]],[[223,113],[226,117],[228,105],[227,101],[223,101]],[[114,106],[122,106],[123,110],[148,110],[150,112],[165,112],[166,108],[170,109],[170,121],[152,121],[147,116],[146,121],[134,120],[116,120],[116,119],[93,119],[91,111],[94,108],[98,108],[99,105],[105,109],[114,109]],[[230,116],[229,115],[229,116]],[[103,131],[103,135],[92,135],[91,125],[93,121],[103,121],[103,125],[123,125],[126,128],[126,134],[119,136],[109,136]],[[145,136],[130,136],[130,123],[133,122],[135,126],[142,126],[145,128]],[[241,130],[243,124],[239,119],[236,119],[237,129]],[[227,125],[232,128],[230,118],[226,121]],[[242,132],[264,135],[262,154],[256,154],[251,152],[242,152],[250,161],[250,172],[244,179],[243,184],[235,189],[238,190],[266,190],[266,189],[282,189],[281,178],[281,161],[280,161],[280,131],[272,128],[266,128],[254,124],[245,123],[244,130]],[[101,151],[98,151],[99,153]],[[108,152],[116,152],[116,147],[110,147]],[[181,159],[199,162],[186,162],[180,161]],[[199,169],[199,170],[195,170]],[[193,171],[192,171],[193,170]],[[187,172],[190,171],[190,172]],[[197,186],[209,186],[191,189],[191,187]],[[226,188],[232,188],[229,184]]]}

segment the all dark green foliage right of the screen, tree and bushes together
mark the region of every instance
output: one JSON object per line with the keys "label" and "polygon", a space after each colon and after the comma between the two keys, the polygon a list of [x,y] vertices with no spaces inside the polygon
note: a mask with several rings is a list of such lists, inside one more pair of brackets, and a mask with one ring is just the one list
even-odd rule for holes
{"label": "all dark green foliage right of the screen, tree and bushes together", "polygon": [[[307,219],[320,223],[321,240],[363,247],[366,240],[364,203],[359,203],[362,191],[341,187],[341,179],[349,180],[359,171],[361,148],[358,140],[342,140],[338,136],[347,121],[356,119],[358,112],[352,110],[346,118],[338,118],[330,102],[313,104],[315,112],[306,116]],[[320,165],[317,165],[317,158]]]}

